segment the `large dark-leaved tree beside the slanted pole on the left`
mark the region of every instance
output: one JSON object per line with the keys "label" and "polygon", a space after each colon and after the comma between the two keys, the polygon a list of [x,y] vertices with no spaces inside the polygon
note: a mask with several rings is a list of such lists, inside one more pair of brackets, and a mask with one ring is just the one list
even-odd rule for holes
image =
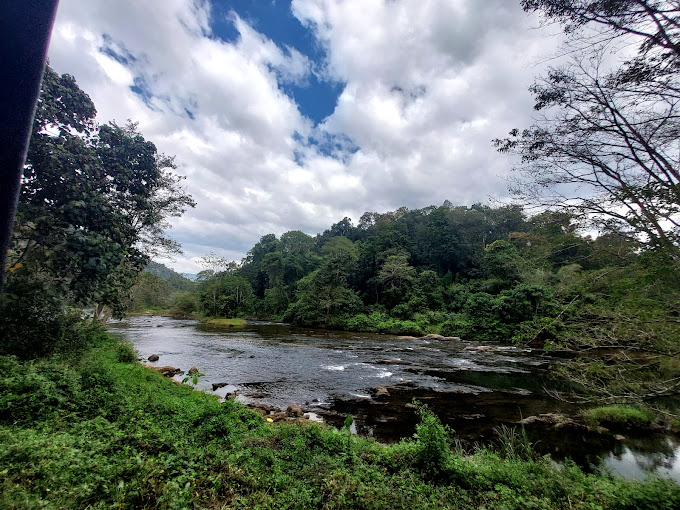
{"label": "large dark-leaved tree beside the slanted pole on the left", "polygon": [[194,202],[172,172],[172,158],[159,154],[135,124],[100,126],[95,114],[72,76],[45,70],[8,292],[13,280],[42,275],[62,298],[107,305],[120,315],[149,255],[179,250],[164,235],[167,218]]}

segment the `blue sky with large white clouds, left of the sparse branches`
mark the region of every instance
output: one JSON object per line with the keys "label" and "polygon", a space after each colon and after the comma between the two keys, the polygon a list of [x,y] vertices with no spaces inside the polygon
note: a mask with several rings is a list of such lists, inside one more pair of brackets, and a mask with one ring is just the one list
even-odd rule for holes
{"label": "blue sky with large white clouds, left of the sparse branches", "polygon": [[197,202],[179,272],[366,211],[507,199],[491,140],[532,123],[561,43],[519,0],[61,0],[50,65]]}

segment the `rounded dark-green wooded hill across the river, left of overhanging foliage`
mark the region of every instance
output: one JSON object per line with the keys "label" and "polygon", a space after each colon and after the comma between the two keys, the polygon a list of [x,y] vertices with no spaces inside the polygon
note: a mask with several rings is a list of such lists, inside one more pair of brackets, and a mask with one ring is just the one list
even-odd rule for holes
{"label": "rounded dark-green wooded hill across the river, left of overhanging foliage", "polygon": [[567,214],[528,217],[514,205],[367,212],[357,225],[344,218],[315,237],[265,235],[240,264],[206,257],[195,289],[172,311],[545,341],[583,275],[629,266],[637,248],[616,232],[584,236]]}

